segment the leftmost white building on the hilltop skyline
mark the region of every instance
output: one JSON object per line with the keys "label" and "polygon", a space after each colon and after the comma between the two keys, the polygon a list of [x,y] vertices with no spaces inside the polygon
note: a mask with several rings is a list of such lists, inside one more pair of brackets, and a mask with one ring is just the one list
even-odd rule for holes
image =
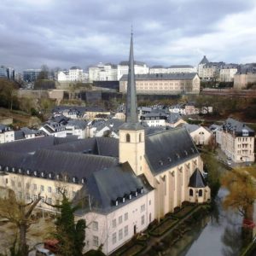
{"label": "leftmost white building on the hilltop skyline", "polygon": [[60,82],[85,82],[88,80],[88,74],[84,73],[80,67],[71,67],[68,71],[58,72],[58,81]]}

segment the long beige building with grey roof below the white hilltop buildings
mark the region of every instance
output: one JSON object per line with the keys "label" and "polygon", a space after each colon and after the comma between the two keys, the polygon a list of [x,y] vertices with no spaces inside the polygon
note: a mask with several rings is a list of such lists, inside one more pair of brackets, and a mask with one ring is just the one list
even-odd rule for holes
{"label": "long beige building with grey roof below the white hilltop buildings", "polygon": [[[136,75],[137,94],[177,95],[198,94],[200,79],[197,73],[164,73]],[[119,81],[119,91],[126,93],[127,75]]]}

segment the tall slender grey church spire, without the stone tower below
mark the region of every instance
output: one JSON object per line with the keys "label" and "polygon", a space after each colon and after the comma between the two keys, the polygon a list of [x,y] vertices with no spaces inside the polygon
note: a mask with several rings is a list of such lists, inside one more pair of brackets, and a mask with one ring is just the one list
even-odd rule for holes
{"label": "tall slender grey church spire, without the stone tower below", "polygon": [[129,72],[127,82],[127,96],[126,96],[126,123],[137,123],[137,95],[134,74],[134,58],[133,58],[133,33],[131,28],[131,45],[129,57]]}

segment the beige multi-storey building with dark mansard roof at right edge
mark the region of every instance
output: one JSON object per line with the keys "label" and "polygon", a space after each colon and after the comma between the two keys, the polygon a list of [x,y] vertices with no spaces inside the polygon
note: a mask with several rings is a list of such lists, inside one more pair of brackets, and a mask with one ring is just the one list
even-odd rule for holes
{"label": "beige multi-storey building with dark mansard roof at right edge", "polygon": [[236,119],[227,119],[221,129],[216,131],[217,143],[221,150],[236,163],[253,162],[253,129]]}

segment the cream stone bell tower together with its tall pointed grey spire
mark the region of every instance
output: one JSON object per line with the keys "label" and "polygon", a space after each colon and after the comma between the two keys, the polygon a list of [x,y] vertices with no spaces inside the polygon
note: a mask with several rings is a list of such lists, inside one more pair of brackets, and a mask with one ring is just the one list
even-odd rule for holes
{"label": "cream stone bell tower together with its tall pointed grey spire", "polygon": [[137,94],[134,74],[133,34],[129,57],[129,72],[126,92],[125,124],[119,128],[119,162],[128,161],[136,175],[143,173],[145,154],[145,131],[138,122]]}

